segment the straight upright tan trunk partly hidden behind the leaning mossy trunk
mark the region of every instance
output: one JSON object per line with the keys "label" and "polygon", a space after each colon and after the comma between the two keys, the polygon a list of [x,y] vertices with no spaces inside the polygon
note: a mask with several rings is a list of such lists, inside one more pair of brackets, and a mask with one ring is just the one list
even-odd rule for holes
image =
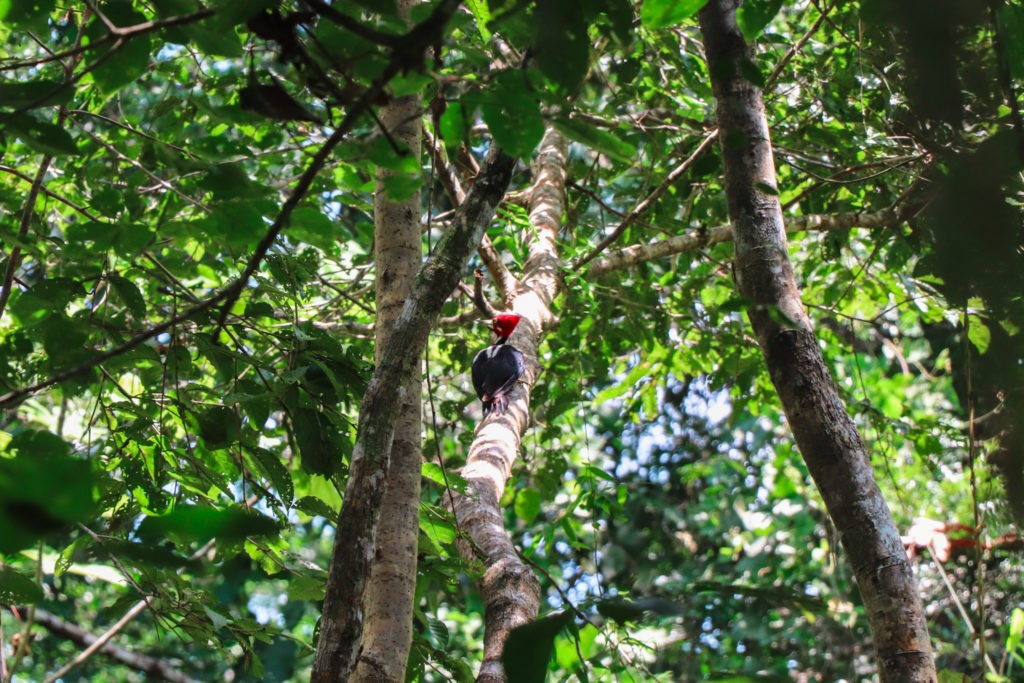
{"label": "straight upright tan trunk partly hidden behind the leaning mossy trunk", "polygon": [[[399,4],[407,15],[413,0]],[[397,97],[380,111],[381,123],[414,157],[420,156],[422,98]],[[377,264],[375,358],[381,362],[391,330],[401,313],[423,258],[420,195],[388,200],[378,170],[374,193],[374,248]],[[377,547],[366,590],[366,631],[354,680],[401,683],[413,643],[417,543],[420,531],[421,367],[413,365],[401,386],[402,400],[391,442]]]}

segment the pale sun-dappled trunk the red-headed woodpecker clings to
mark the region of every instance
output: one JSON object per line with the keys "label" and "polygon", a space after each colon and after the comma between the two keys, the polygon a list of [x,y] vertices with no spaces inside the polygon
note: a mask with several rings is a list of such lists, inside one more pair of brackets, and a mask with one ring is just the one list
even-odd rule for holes
{"label": "pale sun-dappled trunk the red-headed woodpecker clings to", "polygon": [[512,304],[524,319],[509,343],[522,351],[526,372],[510,393],[505,414],[493,414],[477,427],[462,470],[472,494],[454,497],[459,526],[485,567],[480,582],[484,649],[478,683],[506,680],[501,657],[509,632],[536,618],[541,604],[540,583],[505,529],[501,498],[529,422],[529,388],[540,371],[537,348],[553,319],[550,306],[558,290],[556,240],[565,208],[565,139],[549,128],[535,164],[531,233],[526,236],[529,257]]}

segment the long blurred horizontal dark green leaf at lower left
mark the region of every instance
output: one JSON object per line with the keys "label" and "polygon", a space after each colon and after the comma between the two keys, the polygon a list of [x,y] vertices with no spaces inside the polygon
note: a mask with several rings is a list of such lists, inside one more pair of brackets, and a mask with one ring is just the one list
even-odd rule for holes
{"label": "long blurred horizontal dark green leaf at lower left", "polygon": [[155,540],[173,536],[186,542],[241,541],[246,537],[275,536],[276,521],[250,508],[218,510],[200,505],[178,505],[161,517],[146,517],[138,526],[139,538]]}

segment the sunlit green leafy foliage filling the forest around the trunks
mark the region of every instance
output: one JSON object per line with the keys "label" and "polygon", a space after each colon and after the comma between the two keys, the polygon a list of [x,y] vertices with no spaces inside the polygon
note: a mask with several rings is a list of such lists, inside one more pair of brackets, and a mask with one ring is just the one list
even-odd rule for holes
{"label": "sunlit green leafy foliage filling the forest around the trunks", "polygon": [[[655,188],[611,249],[728,220],[714,147],[669,180],[714,127],[693,20],[703,4],[644,0],[635,16],[625,0],[475,1],[421,58],[372,39],[403,35],[392,2],[332,3],[357,17],[355,35],[296,16],[301,3],[118,0],[100,16],[0,1],[0,391],[45,384],[6,402],[0,423],[0,602],[101,633],[145,595],[148,618],[119,633],[125,647],[198,680],[308,678],[373,362],[377,169],[397,172],[389,198],[421,193],[431,218],[452,208],[430,156],[358,109],[400,59],[370,109],[423,94],[459,168],[497,141],[523,158],[522,189],[546,125],[573,142],[565,287],[503,499],[506,527],[543,569],[547,614],[509,640],[512,680],[866,676],[850,558],[750,336],[731,245],[599,278],[572,268]],[[270,7],[294,19],[279,39],[247,26]],[[791,236],[896,521],[973,527],[977,512],[992,539],[1024,509],[1020,131],[1007,92],[1020,84],[1000,76],[1021,78],[1024,39],[1018,3],[996,23],[979,7],[839,3],[819,23],[816,5],[766,0],[738,18],[756,49],[744,75],[767,87],[778,182],[763,189],[787,217],[905,218]],[[245,88],[270,83],[323,126],[241,106]],[[343,124],[349,135],[292,199]],[[425,252],[443,224],[428,227]],[[520,274],[526,210],[503,207],[489,237]],[[257,255],[225,309],[214,297]],[[444,314],[470,307],[453,298]],[[482,648],[482,568],[456,548],[445,487],[466,490],[454,469],[479,414],[464,370],[485,343],[472,326],[431,339],[411,680],[472,680]],[[971,415],[986,416],[973,450]],[[957,602],[985,607],[989,677],[1024,670],[1020,558],[984,559],[984,572],[973,555],[945,563],[955,597],[930,553],[915,560],[949,680],[984,668],[980,612],[969,625]],[[23,628],[2,618],[5,633]],[[34,630],[26,680],[80,650]],[[138,680],[98,656],[74,674]]]}

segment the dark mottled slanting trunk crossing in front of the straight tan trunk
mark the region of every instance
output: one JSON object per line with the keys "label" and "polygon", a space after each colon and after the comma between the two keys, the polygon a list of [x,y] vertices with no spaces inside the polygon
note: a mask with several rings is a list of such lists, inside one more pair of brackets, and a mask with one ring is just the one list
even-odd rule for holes
{"label": "dark mottled slanting trunk crossing in front of the straight tan trunk", "polygon": [[404,386],[420,364],[430,329],[505,196],[515,159],[497,145],[434,255],[420,268],[359,407],[348,482],[328,570],[312,681],[348,681],[362,636],[362,599]]}

